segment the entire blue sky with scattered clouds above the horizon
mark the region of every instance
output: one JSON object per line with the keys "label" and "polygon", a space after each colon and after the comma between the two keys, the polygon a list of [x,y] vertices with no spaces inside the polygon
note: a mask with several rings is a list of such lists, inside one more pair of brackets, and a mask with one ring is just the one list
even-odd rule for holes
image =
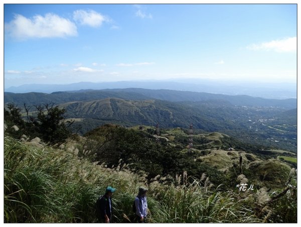
{"label": "entire blue sky with scattered clouds above the horizon", "polygon": [[4,5],[5,87],[200,78],[296,83],[296,5]]}

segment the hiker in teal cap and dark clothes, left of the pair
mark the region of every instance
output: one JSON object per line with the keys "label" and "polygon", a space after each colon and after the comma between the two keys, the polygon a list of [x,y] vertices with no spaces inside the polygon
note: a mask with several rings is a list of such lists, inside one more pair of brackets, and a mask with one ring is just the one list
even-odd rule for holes
{"label": "hiker in teal cap and dark clothes, left of the pair", "polygon": [[110,223],[112,219],[112,199],[111,196],[116,188],[107,186],[105,194],[99,196],[96,201],[96,209],[98,214],[98,220],[102,223]]}

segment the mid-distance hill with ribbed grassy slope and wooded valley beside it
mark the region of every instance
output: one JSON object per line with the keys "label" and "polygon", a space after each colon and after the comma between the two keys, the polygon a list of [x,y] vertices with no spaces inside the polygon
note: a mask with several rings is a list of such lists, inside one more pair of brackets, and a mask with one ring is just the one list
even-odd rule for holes
{"label": "mid-distance hill with ribbed grassy slope and wooded valley beside it", "polygon": [[[119,98],[69,102],[59,106],[67,110],[68,118],[84,119],[74,124],[81,127],[82,134],[106,123],[125,127],[140,124],[155,126],[159,123],[163,128],[188,128],[193,124],[195,129],[203,132],[218,131],[270,149],[296,152],[296,126],[287,124],[285,127],[289,130],[283,136],[283,130],[277,129],[280,117],[277,121],[273,117],[281,112],[278,109],[238,107],[218,101],[174,103]],[[284,117],[281,119],[284,121]]]}

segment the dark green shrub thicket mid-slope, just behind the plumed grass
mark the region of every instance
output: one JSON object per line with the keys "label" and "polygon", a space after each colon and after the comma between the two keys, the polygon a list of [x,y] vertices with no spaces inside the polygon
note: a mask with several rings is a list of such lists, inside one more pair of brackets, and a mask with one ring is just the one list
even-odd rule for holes
{"label": "dark green shrub thicket mid-slope, just behind the plumed grass", "polygon": [[88,138],[85,144],[87,149],[97,155],[94,161],[105,162],[108,166],[117,166],[118,160],[122,159],[124,163],[132,163],[131,168],[147,172],[149,179],[158,174],[175,177],[184,170],[194,176],[206,172],[215,185],[228,185],[226,177],[217,169],[195,162],[194,157],[180,152],[181,147],[177,150],[166,145],[165,140],[158,143],[155,137],[144,130],[103,125],[85,136]]}

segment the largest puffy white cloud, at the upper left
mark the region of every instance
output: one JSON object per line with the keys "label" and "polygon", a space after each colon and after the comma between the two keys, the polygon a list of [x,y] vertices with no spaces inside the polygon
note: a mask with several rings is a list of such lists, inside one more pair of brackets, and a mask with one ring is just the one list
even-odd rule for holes
{"label": "largest puffy white cloud, at the upper left", "polygon": [[36,15],[32,19],[15,15],[13,21],[5,24],[5,31],[9,36],[21,40],[77,36],[76,25],[55,14],[46,14],[45,17]]}

